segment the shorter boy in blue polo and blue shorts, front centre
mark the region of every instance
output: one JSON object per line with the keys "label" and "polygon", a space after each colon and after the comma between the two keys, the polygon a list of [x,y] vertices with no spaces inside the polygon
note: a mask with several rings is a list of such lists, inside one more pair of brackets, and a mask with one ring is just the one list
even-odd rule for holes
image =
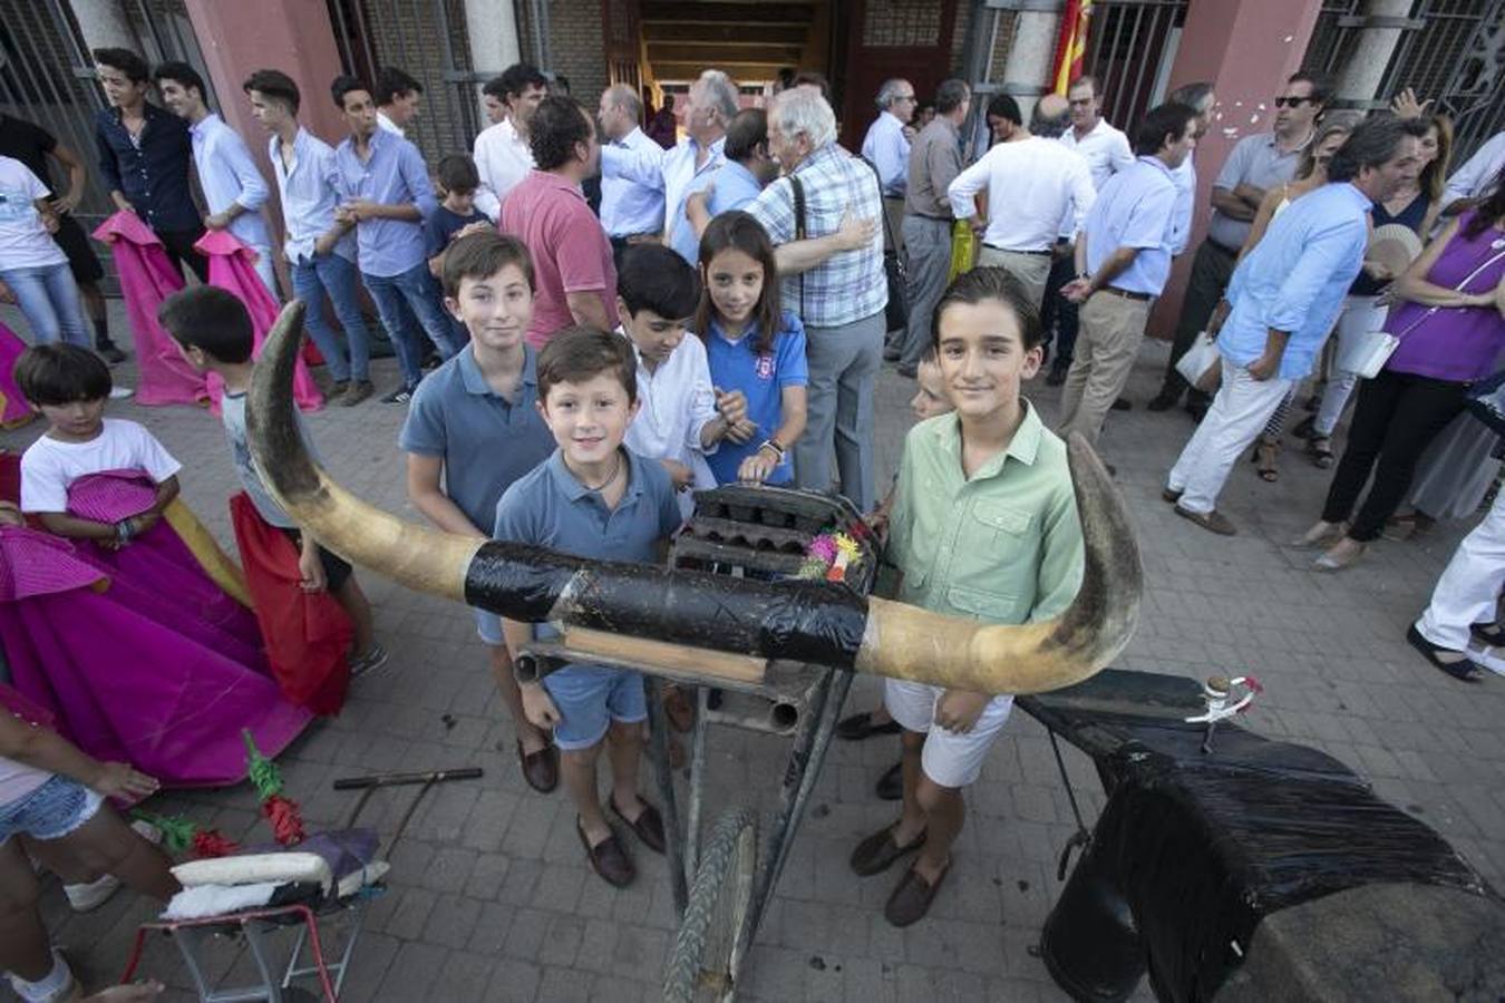
{"label": "shorter boy in blue polo and blue shorts, front centre", "polygon": [[[632,346],[617,334],[566,328],[539,352],[537,373],[540,411],[558,448],[501,496],[492,535],[597,561],[662,559],[680,525],[674,486],[659,463],[622,445],[638,411]],[[546,624],[501,624],[512,650],[551,633]],[[637,871],[602,812],[596,759],[610,738],[611,811],[649,850],[664,853],[664,820],[638,794],[643,677],[567,665],[525,684],[522,705],[537,728],[554,729],[590,866],[617,887],[629,884]]]}

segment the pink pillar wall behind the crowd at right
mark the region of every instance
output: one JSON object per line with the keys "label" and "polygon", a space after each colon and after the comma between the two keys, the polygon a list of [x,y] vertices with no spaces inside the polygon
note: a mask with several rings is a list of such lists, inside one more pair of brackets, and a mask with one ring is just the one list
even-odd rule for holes
{"label": "pink pillar wall behind the crowd at right", "polygon": [[1300,69],[1321,0],[1198,0],[1187,5],[1181,44],[1171,68],[1171,87],[1210,80],[1218,113],[1196,149],[1196,215],[1186,247],[1150,317],[1150,332],[1169,338],[1181,310],[1192,256],[1207,233],[1218,170],[1240,138],[1269,132],[1270,99]]}

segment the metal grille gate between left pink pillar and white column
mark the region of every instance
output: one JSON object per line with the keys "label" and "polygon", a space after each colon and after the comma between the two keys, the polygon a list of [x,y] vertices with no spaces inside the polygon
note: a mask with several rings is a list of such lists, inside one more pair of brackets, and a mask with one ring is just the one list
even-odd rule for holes
{"label": "metal grille gate between left pink pillar and white column", "polygon": [[423,84],[421,111],[406,132],[424,159],[433,165],[448,153],[468,153],[486,125],[476,84],[489,74],[474,72],[465,2],[328,0],[328,6],[345,72],[375,84],[382,66],[399,66]]}

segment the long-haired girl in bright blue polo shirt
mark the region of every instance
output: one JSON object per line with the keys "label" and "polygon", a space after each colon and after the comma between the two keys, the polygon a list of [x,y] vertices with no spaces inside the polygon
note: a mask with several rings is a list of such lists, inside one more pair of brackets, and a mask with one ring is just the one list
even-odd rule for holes
{"label": "long-haired girl in bright blue polo shirt", "polygon": [[746,420],[706,457],[719,484],[787,484],[790,451],[805,430],[805,328],[778,307],[774,245],[745,212],[722,212],[700,238],[704,292],[695,329],[706,341],[716,392],[740,389]]}

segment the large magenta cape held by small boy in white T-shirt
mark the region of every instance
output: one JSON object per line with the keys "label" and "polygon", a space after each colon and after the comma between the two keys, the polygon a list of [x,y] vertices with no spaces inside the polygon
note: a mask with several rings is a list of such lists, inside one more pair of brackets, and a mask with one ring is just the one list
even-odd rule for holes
{"label": "large magenta cape held by small boy in white T-shirt", "polygon": [[[140,511],[137,493],[111,480],[80,478],[69,511]],[[242,728],[275,755],[310,719],[271,680],[250,611],[166,522],[117,552],[0,526],[0,644],[15,689],[54,714],[63,737],[167,785],[236,783]]]}

